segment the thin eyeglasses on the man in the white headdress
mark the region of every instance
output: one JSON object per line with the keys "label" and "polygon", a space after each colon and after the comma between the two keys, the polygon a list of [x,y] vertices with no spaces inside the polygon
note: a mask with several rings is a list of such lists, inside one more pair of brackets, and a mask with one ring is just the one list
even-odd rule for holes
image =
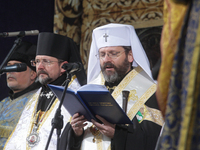
{"label": "thin eyeglasses on the man in the white headdress", "polygon": [[99,54],[95,55],[97,57],[97,59],[105,59],[106,54],[108,55],[109,58],[111,59],[116,59],[117,57],[119,57],[121,54],[123,54],[125,52],[121,51],[121,52],[116,52],[116,51],[110,51],[110,52],[100,52]]}

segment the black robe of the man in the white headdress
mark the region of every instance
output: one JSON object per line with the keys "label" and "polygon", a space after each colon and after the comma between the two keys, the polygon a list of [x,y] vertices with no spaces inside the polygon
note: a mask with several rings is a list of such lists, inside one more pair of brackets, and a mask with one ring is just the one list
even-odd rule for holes
{"label": "black robe of the man in the white headdress", "polygon": [[[145,105],[158,109],[155,94]],[[114,138],[111,139],[111,150],[155,150],[162,126],[148,120],[139,123],[136,116],[132,121],[133,125],[116,125]],[[68,123],[61,135],[59,150],[79,150],[83,135],[76,137]]]}

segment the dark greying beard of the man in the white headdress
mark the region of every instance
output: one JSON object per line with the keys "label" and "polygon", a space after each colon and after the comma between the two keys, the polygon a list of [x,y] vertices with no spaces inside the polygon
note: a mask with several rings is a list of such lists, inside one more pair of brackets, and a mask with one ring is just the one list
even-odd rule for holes
{"label": "dark greying beard of the man in the white headdress", "polygon": [[[102,70],[105,81],[108,83],[114,83],[114,82],[121,81],[124,78],[124,76],[126,75],[128,69],[129,69],[129,66],[130,66],[130,62],[128,62],[127,57],[124,59],[122,65],[120,65],[119,67],[116,67],[111,62],[105,63],[103,66],[101,66],[101,70]],[[107,74],[106,67],[113,67],[114,72],[110,75]]]}

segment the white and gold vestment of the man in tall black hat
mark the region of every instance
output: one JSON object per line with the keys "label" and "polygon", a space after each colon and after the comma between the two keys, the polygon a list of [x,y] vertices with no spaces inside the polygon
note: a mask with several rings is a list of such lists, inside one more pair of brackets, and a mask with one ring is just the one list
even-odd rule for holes
{"label": "white and gold vestment of the man in tall black hat", "polygon": [[[75,85],[78,84],[78,83],[77,83],[78,81],[76,81],[75,79],[76,79],[76,76],[73,76],[72,79],[71,79],[71,82],[69,83],[69,86],[71,86],[71,85],[75,86]],[[21,124],[19,124],[19,122],[18,122],[18,125],[17,125],[16,128],[13,130],[12,134],[10,135],[9,139],[7,140],[4,149],[10,149],[10,144],[13,143],[13,140],[12,140],[13,136],[14,136],[14,140],[15,140],[15,141],[16,141],[16,139],[19,138],[20,132],[18,132],[17,129],[19,129],[19,130],[22,131],[22,132],[25,132],[24,134],[26,134],[26,136],[20,137],[21,140],[18,140],[18,142],[21,144],[21,146],[23,147],[23,149],[24,149],[24,147],[25,147],[25,149],[27,149],[27,150],[29,150],[29,149],[43,149],[44,146],[46,145],[46,140],[47,140],[47,139],[44,139],[44,141],[40,141],[40,142],[39,142],[35,147],[33,147],[33,148],[30,148],[30,147],[28,146],[27,142],[24,141],[24,139],[26,139],[26,137],[27,137],[27,136],[31,133],[31,131],[32,131],[33,121],[34,121],[34,114],[35,114],[35,110],[37,109],[37,102],[38,102],[38,100],[39,100],[38,97],[39,97],[40,91],[41,91],[41,89],[39,89],[38,92],[34,95],[34,97],[27,103],[25,109],[23,110],[22,116],[21,116],[21,118],[20,118],[20,120],[19,120],[19,122],[23,122],[22,120],[23,120],[23,119],[26,119],[26,127],[25,127],[26,129],[22,129],[22,128],[20,127]],[[46,112],[47,114],[46,114],[45,117],[43,118],[43,121],[42,121],[42,123],[40,124],[40,126],[39,126],[39,128],[38,128],[38,130],[37,130],[38,133],[39,133],[40,129],[42,129],[42,128],[45,128],[45,127],[51,128],[51,124],[50,124],[50,123],[47,124],[46,122],[49,121],[49,119],[50,119],[49,117],[50,117],[50,116],[51,116],[51,117],[54,116],[55,111],[56,111],[56,108],[58,107],[58,105],[59,105],[59,100],[56,98],[56,100],[53,102],[51,108]],[[70,114],[67,112],[66,109],[62,109],[62,112],[63,112],[63,111],[64,111],[64,117],[67,117],[67,118],[65,118],[66,120],[64,120],[64,124],[65,124],[65,123],[67,123],[67,121],[69,120]],[[26,116],[26,112],[29,113],[28,118],[27,118],[27,116]],[[23,114],[24,114],[24,115],[23,115]],[[24,118],[23,118],[23,116],[24,116]],[[50,119],[50,122],[51,122],[51,119]],[[49,129],[49,131],[50,131],[50,129]],[[20,138],[19,138],[19,139],[20,139]],[[53,140],[53,137],[52,137],[52,140]],[[52,140],[51,140],[51,141],[52,141]],[[13,145],[16,146],[15,141],[14,141]],[[23,141],[23,142],[22,142],[22,141]],[[42,142],[45,142],[45,143],[42,143]],[[52,144],[52,143],[55,143],[55,142],[50,142],[50,144]],[[44,146],[43,146],[43,145],[44,145]],[[55,145],[55,147],[56,147],[56,145]]]}

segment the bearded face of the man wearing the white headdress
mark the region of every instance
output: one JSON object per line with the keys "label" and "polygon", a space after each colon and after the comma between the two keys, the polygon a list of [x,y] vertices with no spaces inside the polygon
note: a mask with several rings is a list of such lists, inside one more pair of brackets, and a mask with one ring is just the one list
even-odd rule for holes
{"label": "bearded face of the man wearing the white headdress", "polygon": [[121,80],[131,69],[132,51],[126,55],[121,46],[103,47],[99,49],[100,65],[107,82]]}

